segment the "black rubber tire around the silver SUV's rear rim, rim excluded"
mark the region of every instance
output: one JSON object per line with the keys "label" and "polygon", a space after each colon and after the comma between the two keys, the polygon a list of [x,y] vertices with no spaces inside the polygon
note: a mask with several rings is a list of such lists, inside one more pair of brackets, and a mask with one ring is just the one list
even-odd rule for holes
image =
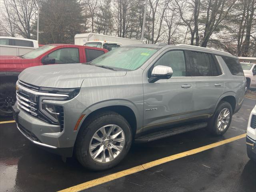
{"label": "black rubber tire around the silver SUV's rear rim, rim excluded", "polygon": [[[228,110],[230,111],[230,118],[229,118],[229,122],[228,122],[228,125],[226,126],[226,128],[225,128],[223,131],[220,131],[220,130],[218,129],[218,124],[217,124],[217,122],[218,122],[218,116],[219,116],[220,112],[221,112],[224,108],[228,108]],[[213,126],[214,130],[213,130],[213,132],[214,132],[216,135],[222,135],[222,134],[224,134],[224,133],[228,130],[228,128],[229,128],[229,126],[230,126],[230,124],[231,124],[231,121],[232,121],[232,115],[233,115],[232,106],[231,106],[228,102],[221,102],[221,103],[219,104],[219,106],[218,106],[218,108],[217,108],[215,114],[214,114],[214,126]]]}

